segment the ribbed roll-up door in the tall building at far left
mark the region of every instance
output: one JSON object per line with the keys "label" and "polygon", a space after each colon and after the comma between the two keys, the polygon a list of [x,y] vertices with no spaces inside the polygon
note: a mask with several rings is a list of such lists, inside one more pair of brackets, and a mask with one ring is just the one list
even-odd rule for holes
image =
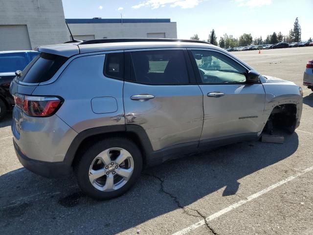
{"label": "ribbed roll-up door in the tall building at far left", "polygon": [[0,25],[0,51],[30,49],[27,25]]}

